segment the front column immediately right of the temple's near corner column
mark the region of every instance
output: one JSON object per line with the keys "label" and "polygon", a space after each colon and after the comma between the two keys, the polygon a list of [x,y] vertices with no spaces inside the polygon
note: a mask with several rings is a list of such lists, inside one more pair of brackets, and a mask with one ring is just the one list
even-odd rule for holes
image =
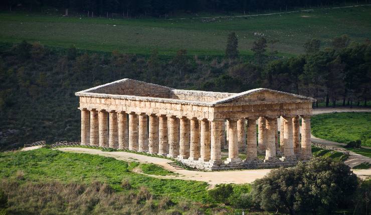
{"label": "front column immediately right of the temple's near corner column", "polygon": [[241,162],[238,154],[238,137],[237,137],[237,120],[228,119],[229,121],[229,145],[227,164],[238,164]]}

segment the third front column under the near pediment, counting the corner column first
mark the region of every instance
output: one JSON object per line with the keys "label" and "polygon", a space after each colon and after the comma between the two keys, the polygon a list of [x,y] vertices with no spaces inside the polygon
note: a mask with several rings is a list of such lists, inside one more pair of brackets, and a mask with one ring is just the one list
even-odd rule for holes
{"label": "third front column under the near pediment, counting the corner column first", "polygon": [[256,146],[256,119],[249,117],[247,119],[247,160],[257,160],[258,150]]}

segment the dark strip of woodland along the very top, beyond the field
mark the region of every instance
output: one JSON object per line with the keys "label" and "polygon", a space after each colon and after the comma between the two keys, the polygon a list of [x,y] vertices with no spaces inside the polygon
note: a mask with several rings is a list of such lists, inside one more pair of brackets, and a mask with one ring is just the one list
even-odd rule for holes
{"label": "dark strip of woodland along the very top, beyond the field", "polygon": [[88,16],[169,16],[177,13],[208,12],[267,12],[285,11],[296,7],[320,7],[369,3],[369,0],[5,0],[3,8],[24,8],[45,11],[62,9],[66,15],[74,11]]}

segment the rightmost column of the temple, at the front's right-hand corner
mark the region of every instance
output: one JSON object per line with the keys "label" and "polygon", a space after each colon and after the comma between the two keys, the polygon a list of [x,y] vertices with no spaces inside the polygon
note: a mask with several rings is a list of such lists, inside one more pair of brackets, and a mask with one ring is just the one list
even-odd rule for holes
{"label": "rightmost column of the temple, at the front's right-hand corner", "polygon": [[310,116],[301,116],[301,159],[312,157],[312,142],[310,140]]}

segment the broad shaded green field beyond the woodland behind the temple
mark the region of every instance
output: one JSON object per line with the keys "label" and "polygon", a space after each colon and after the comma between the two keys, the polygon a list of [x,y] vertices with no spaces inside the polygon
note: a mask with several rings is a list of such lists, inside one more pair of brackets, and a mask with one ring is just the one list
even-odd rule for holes
{"label": "broad shaded green field beyond the woodland behind the temple", "polygon": [[[114,26],[116,25],[116,26]],[[44,45],[81,49],[173,55],[186,48],[190,54],[224,55],[227,34],[235,31],[239,50],[250,55],[252,42],[264,34],[278,39],[282,55],[303,52],[303,43],[319,38],[328,45],[331,38],[348,34],[364,41],[371,35],[371,7],[315,9],[266,16],[217,19],[107,19],[63,17],[34,13],[0,13],[0,41],[39,41]],[[268,48],[269,49],[269,48]]]}

